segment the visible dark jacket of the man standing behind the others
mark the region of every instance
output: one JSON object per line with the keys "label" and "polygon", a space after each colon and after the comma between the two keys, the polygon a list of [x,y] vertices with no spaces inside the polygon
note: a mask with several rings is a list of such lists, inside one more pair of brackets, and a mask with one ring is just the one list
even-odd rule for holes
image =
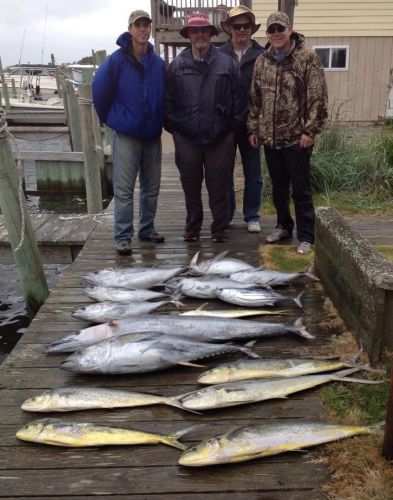
{"label": "visible dark jacket of the man standing behind the others", "polygon": [[230,56],[236,64],[239,66],[240,70],[240,85],[241,85],[241,94],[244,98],[244,107],[245,112],[243,114],[243,132],[246,134],[246,123],[247,123],[247,97],[251,87],[252,75],[254,73],[254,65],[257,58],[262,54],[265,50],[262,45],[259,45],[255,40],[251,40],[251,47],[242,57],[241,61],[238,62],[238,58],[233,50],[231,41],[229,40],[227,43],[219,47],[219,52]]}

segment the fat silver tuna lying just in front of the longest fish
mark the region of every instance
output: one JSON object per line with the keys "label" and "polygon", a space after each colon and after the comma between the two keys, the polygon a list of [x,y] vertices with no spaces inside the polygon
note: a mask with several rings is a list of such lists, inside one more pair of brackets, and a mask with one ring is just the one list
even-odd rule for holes
{"label": "fat silver tuna lying just in front of the longest fish", "polygon": [[247,345],[195,342],[158,332],[137,340],[133,334],[120,335],[74,352],[60,368],[77,373],[148,373],[177,364],[201,367],[191,362],[239,351],[258,357]]}

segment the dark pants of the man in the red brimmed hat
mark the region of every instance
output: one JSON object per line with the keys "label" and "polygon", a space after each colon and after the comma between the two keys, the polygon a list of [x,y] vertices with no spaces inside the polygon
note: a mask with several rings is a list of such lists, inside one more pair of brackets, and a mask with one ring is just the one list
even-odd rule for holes
{"label": "dark pants of the man in the red brimmed hat", "polygon": [[228,191],[235,155],[234,134],[230,133],[220,142],[208,146],[192,144],[179,132],[174,133],[173,140],[186,202],[186,233],[198,235],[202,227],[204,177],[213,216],[211,232],[223,231],[229,223]]}

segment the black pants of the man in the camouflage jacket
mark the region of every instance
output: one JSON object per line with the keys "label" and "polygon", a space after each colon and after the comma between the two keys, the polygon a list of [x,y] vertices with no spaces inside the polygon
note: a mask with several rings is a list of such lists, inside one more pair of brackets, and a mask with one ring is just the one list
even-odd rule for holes
{"label": "black pants of the man in the camouflage jacket", "polygon": [[273,187],[273,203],[277,212],[277,226],[282,226],[292,234],[294,223],[289,210],[292,188],[298,240],[308,243],[314,243],[315,221],[310,182],[311,153],[312,148],[300,149],[297,145],[283,149],[265,146],[266,163]]}

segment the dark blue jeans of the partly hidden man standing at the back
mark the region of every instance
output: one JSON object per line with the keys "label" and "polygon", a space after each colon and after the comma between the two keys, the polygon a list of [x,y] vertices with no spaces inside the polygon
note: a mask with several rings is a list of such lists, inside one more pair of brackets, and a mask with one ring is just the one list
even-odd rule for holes
{"label": "dark blue jeans of the partly hidden man standing at the back", "polygon": [[[259,208],[262,200],[262,154],[261,148],[255,149],[248,143],[246,136],[236,136],[244,174],[243,217],[246,222],[259,221]],[[229,220],[236,210],[235,183],[233,175],[229,186]]]}

